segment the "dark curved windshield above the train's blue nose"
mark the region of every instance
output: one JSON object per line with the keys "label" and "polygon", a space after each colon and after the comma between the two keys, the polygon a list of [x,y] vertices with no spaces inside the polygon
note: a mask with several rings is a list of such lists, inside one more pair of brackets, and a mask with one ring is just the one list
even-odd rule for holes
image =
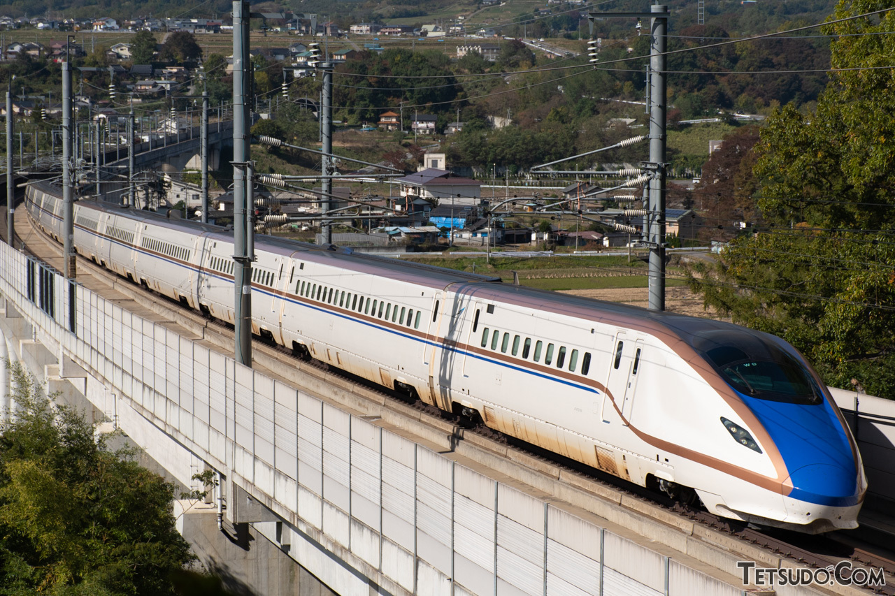
{"label": "dark curved windshield above the train's blue nose", "polygon": [[712,331],[694,347],[712,362],[731,387],[746,396],[789,404],[820,404],[823,392],[794,353],[762,336]]}

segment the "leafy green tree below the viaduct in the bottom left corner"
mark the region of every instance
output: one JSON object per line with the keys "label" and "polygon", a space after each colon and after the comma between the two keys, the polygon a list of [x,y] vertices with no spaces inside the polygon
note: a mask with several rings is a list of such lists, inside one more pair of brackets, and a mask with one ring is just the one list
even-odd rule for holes
{"label": "leafy green tree below the viaduct in the bottom left corner", "polygon": [[13,421],[0,427],[0,594],[173,594],[193,560],[175,529],[174,486],[112,451],[11,365]]}

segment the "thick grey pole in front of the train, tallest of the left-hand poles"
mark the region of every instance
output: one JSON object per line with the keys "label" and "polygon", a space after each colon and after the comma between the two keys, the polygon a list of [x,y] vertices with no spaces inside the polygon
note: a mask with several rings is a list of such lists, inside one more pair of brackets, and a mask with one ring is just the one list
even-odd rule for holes
{"label": "thick grey pole in front of the train, tallest of the left-hand poles", "polygon": [[233,229],[234,229],[234,336],[235,359],[251,367],[251,225],[248,203],[248,162],[251,159],[251,89],[249,55],[249,3],[233,3]]}

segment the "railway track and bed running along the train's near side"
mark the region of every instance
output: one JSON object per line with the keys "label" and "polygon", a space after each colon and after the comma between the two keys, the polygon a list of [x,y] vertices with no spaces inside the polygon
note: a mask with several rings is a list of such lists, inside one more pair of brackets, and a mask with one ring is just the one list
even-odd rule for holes
{"label": "railway track and bed running along the train's near side", "polygon": [[[30,225],[30,221],[29,221]],[[37,229],[32,228],[34,233],[40,236],[51,251],[59,254],[55,243],[48,241],[43,234]],[[33,235],[29,234],[33,238]],[[41,250],[29,250],[31,254],[40,257]],[[79,267],[90,271],[90,275],[104,280],[105,283],[112,285],[122,294],[129,295],[135,302],[141,305],[160,311],[160,314],[170,315],[173,319],[190,319],[192,323],[200,328],[215,328],[229,337],[232,341],[233,326],[200,314],[198,311],[192,311],[183,307],[179,302],[175,302],[160,294],[156,294],[151,290],[147,290],[139,285],[133,284],[122,277],[118,277],[110,273],[105,268],[83,259],[79,259]],[[252,339],[254,348],[264,350],[269,354],[276,354],[276,358],[281,362],[296,362],[301,360],[291,350],[284,346],[266,342],[258,337]],[[339,379],[344,383],[353,383],[362,387],[362,394],[377,403],[385,403],[387,407],[410,407],[425,416],[432,423],[437,422],[439,428],[443,428],[445,423],[452,424],[462,428],[462,436],[460,440],[472,438],[469,434],[474,435],[478,440],[476,444],[480,447],[491,446],[491,451],[499,453],[502,448],[512,448],[520,454],[524,454],[529,458],[540,461],[543,464],[555,466],[567,473],[574,473],[585,481],[599,483],[609,490],[618,491],[628,499],[635,499],[641,507],[633,507],[638,515],[650,515],[651,508],[661,510],[666,515],[678,515],[693,524],[699,524],[712,532],[719,532],[734,541],[741,542],[744,546],[761,548],[773,555],[785,558],[793,563],[802,564],[814,569],[822,569],[840,564],[841,561],[850,561],[859,566],[865,566],[869,569],[882,568],[887,580],[887,586],[882,589],[865,589],[865,593],[879,593],[887,596],[895,596],[895,557],[892,553],[887,552],[885,544],[874,544],[863,541],[851,536],[846,536],[842,532],[832,532],[831,535],[808,536],[798,534],[797,532],[783,532],[776,530],[761,530],[748,527],[745,524],[737,524],[728,519],[711,515],[704,510],[695,507],[686,507],[673,499],[667,498],[659,492],[651,491],[633,483],[623,481],[618,477],[608,473],[602,473],[584,464],[579,464],[573,460],[569,460],[563,456],[547,452],[540,447],[535,447],[516,438],[510,438],[485,427],[483,424],[476,424],[468,421],[460,416],[452,413],[445,413],[431,406],[424,404],[420,400],[408,400],[408,397],[397,391],[388,390],[384,387],[374,385],[364,379],[359,379],[354,375],[337,370],[326,363],[319,361],[302,361],[302,371],[304,374],[316,377],[319,380],[327,381],[331,379]],[[388,405],[390,404],[390,406]],[[522,459],[516,458],[517,461]],[[598,494],[598,493],[594,493]],[[654,519],[665,523],[663,515],[653,514]],[[733,550],[735,554],[736,550]]]}

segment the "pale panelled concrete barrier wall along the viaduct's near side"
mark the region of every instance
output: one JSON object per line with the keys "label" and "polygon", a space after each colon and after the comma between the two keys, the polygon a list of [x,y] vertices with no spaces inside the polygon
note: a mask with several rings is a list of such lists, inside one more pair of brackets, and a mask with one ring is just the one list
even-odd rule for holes
{"label": "pale panelled concrete barrier wall along the viaduct's near side", "polygon": [[[23,291],[41,268],[28,263],[0,244],[0,291],[36,335],[275,512],[282,522],[243,521],[259,522],[339,594],[369,596],[371,582],[382,593],[444,596],[744,593],[80,285],[61,292],[68,282],[44,269],[61,292],[48,313]],[[188,475],[184,467],[175,473]],[[241,521],[232,485],[227,492],[228,515]]]}

